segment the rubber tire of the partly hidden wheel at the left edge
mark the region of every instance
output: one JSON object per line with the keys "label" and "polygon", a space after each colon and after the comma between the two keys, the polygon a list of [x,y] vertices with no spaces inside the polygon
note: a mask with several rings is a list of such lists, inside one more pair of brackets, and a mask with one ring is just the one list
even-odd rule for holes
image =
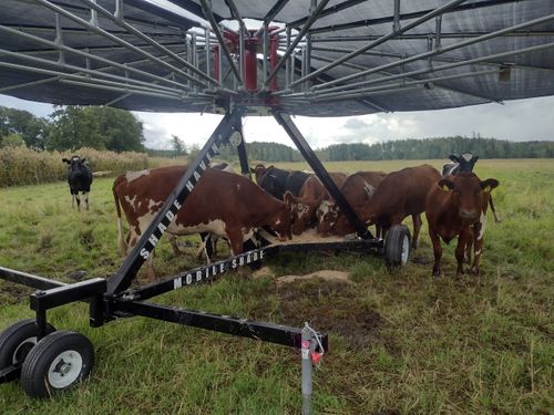
{"label": "rubber tire of the partly hidden wheel at the left edge", "polygon": [[[47,323],[47,334],[54,332],[53,325]],[[10,325],[4,331],[0,333],[0,369],[11,366],[13,364],[13,353],[18,350],[20,344],[29,339],[35,338],[39,334],[34,319],[20,320],[17,323]],[[34,346],[31,347],[31,350]],[[18,362],[22,364],[30,353],[29,351],[23,351],[21,361]]]}

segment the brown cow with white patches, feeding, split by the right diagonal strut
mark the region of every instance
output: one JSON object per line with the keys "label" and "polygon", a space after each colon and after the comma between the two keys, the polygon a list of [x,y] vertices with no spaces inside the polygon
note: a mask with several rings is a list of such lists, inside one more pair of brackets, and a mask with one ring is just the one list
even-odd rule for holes
{"label": "brown cow with white patches, feeding, split by the right diagonal strut", "polygon": [[[347,177],[342,186],[340,186],[340,191],[352,209],[358,211],[361,208],[361,205],[371,199],[373,193],[384,176],[387,176],[387,173],[383,172],[355,173]],[[322,236],[343,236],[355,231],[346,218],[339,219],[345,215],[335,200],[321,201],[316,216],[318,219],[317,231]]]}

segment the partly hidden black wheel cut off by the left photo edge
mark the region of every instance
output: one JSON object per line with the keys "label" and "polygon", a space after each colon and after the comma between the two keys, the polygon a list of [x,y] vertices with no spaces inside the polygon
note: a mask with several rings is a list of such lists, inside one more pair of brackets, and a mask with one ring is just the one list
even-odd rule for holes
{"label": "partly hidden black wheel cut off by the left photo edge", "polygon": [[[55,329],[47,324],[47,334]],[[37,344],[39,330],[34,319],[20,320],[0,333],[0,370],[23,364]]]}

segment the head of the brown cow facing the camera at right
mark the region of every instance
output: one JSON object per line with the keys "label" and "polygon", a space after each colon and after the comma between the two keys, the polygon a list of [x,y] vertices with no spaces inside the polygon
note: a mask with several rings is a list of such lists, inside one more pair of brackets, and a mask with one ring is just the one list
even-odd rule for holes
{"label": "head of the brown cow facing the camera at right", "polygon": [[473,173],[460,173],[438,183],[443,190],[451,193],[458,215],[462,219],[476,220],[481,215],[483,193],[490,193],[499,186],[499,180],[488,178],[481,181]]}

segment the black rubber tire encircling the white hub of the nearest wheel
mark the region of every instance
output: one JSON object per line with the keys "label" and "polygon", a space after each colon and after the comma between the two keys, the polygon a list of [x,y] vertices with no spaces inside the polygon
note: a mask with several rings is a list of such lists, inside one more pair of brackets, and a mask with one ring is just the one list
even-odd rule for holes
{"label": "black rubber tire encircling the white hub of the nearest wheel", "polygon": [[[61,353],[73,350],[81,355],[83,366],[75,381],[70,385],[57,388],[48,380],[50,365]],[[29,396],[45,398],[65,391],[82,382],[94,365],[94,347],[91,341],[72,331],[57,331],[42,338],[23,362],[21,369],[21,386]]]}

